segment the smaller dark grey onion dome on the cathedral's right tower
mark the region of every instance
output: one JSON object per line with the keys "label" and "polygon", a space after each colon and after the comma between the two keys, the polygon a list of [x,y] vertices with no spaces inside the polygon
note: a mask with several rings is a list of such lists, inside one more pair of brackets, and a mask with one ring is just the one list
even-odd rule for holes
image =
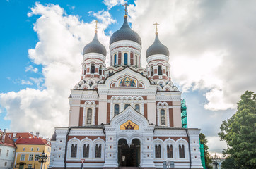
{"label": "smaller dark grey onion dome on the cathedral's right tower", "polygon": [[146,50],[146,57],[155,54],[163,54],[165,56],[169,56],[168,48],[160,42],[158,35],[156,35],[156,39],[153,44]]}

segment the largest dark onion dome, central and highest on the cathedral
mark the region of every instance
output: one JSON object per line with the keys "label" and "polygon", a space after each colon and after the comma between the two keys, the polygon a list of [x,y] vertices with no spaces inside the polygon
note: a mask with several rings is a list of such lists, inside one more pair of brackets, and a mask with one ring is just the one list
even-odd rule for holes
{"label": "largest dark onion dome, central and highest on the cathedral", "polygon": [[127,18],[124,18],[122,27],[114,32],[110,37],[110,45],[121,40],[130,40],[141,45],[141,37],[139,37],[139,34],[137,34],[134,30],[131,29],[131,27],[129,27]]}

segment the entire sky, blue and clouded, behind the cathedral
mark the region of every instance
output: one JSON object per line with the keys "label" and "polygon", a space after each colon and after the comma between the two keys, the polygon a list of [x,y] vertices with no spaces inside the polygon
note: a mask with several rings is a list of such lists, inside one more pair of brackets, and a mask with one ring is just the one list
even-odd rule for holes
{"label": "entire sky, blue and clouded, behind the cathedral", "polygon": [[[67,125],[67,97],[80,78],[81,51],[93,38],[93,20],[100,21],[98,37],[106,49],[123,23],[123,0],[111,2],[0,1],[2,130],[50,137],[54,127]],[[256,91],[256,2],[128,2],[130,25],[142,39],[142,65],[157,21],[159,38],[170,51],[172,80],[187,102],[188,126],[201,128],[210,151],[221,152],[222,120],[235,113],[241,94]]]}

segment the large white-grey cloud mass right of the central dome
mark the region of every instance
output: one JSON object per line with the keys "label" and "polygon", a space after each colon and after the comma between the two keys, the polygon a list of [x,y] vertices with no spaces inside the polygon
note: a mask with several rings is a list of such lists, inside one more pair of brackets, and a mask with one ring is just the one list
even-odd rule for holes
{"label": "large white-grey cloud mass right of the central dome", "polygon": [[[256,91],[252,64],[256,42],[251,40],[256,36],[251,17],[256,14],[255,1],[137,0],[135,4],[129,7],[129,20],[141,35],[143,65],[157,21],[161,42],[170,50],[173,80],[182,91],[208,91],[204,108],[234,108],[245,90]],[[218,94],[223,98],[216,98]]]}

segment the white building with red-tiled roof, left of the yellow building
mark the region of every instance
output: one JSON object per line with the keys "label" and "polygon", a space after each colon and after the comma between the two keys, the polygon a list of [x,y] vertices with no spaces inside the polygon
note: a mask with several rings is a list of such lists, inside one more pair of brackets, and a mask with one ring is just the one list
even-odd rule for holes
{"label": "white building with red-tiled roof, left of the yellow building", "polygon": [[6,130],[0,133],[0,168],[13,168],[16,146],[11,137],[6,134]]}

